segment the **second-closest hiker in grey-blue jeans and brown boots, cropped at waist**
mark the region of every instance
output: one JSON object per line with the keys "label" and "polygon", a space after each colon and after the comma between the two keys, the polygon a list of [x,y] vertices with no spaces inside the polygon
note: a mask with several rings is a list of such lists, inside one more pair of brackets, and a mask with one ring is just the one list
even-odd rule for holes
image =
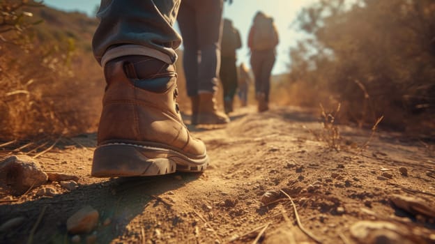
{"label": "second-closest hiker in grey-blue jeans and brown boots, cropped at waist", "polygon": [[215,94],[219,80],[222,0],[183,0],[178,24],[183,36],[183,66],[192,124],[224,124],[226,114],[217,111]]}

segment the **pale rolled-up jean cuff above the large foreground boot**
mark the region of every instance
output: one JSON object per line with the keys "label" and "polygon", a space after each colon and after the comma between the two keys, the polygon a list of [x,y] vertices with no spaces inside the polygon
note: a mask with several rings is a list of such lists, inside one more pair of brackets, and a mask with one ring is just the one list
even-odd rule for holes
{"label": "pale rolled-up jean cuff above the large foreground boot", "polygon": [[165,63],[173,64],[176,61],[177,56],[171,57],[164,52],[160,52],[157,49],[153,49],[151,47],[146,47],[142,45],[120,45],[117,47],[113,47],[105,52],[105,54],[101,58],[101,67],[104,67],[107,62],[112,59],[119,58],[120,56],[128,56],[128,55],[144,55],[151,56],[160,61],[164,61]]}

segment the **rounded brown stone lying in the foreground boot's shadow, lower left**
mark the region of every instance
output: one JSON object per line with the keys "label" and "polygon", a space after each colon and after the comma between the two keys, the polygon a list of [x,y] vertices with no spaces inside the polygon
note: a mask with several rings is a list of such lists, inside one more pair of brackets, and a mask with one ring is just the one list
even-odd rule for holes
{"label": "rounded brown stone lying in the foreground boot's shadow, lower left", "polygon": [[91,206],[85,206],[66,221],[66,229],[70,234],[89,233],[97,226],[98,211]]}

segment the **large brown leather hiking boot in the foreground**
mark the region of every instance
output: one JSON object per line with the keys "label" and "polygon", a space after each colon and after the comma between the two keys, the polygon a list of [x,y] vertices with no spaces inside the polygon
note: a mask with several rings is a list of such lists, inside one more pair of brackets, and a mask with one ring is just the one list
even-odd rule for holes
{"label": "large brown leather hiking boot in the foreground", "polygon": [[107,82],[92,176],[155,176],[203,171],[206,146],[185,127],[174,66],[123,56],[105,66]]}

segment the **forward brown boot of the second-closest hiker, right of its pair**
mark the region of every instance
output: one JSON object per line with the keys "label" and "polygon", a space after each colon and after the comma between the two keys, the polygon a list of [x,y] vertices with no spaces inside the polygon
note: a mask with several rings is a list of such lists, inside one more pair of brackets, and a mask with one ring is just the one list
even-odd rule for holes
{"label": "forward brown boot of the second-closest hiker, right of its pair", "polygon": [[227,114],[217,111],[213,93],[199,93],[198,124],[229,123]]}

